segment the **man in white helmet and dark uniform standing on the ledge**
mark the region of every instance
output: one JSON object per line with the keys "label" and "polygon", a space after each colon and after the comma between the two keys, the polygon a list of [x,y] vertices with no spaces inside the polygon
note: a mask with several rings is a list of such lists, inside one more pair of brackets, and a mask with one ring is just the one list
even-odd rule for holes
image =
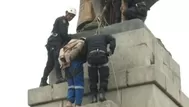
{"label": "man in white helmet and dark uniform standing on the ledge", "polygon": [[41,78],[41,86],[48,85],[47,78],[50,72],[55,67],[57,84],[64,82],[60,69],[60,64],[58,62],[59,51],[71,38],[68,36],[68,26],[69,21],[71,21],[76,15],[76,9],[70,8],[66,11],[65,16],[58,17],[55,20],[54,27],[52,29],[52,34],[48,38],[46,48],[48,51],[48,60],[46,67],[44,69],[43,77]]}

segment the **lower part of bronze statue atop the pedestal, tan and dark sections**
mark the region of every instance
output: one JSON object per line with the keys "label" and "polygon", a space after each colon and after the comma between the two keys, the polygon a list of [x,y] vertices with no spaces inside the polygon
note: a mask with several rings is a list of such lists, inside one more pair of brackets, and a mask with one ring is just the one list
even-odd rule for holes
{"label": "lower part of bronze statue atop the pedestal, tan and dark sections", "polygon": [[[121,22],[121,0],[80,0],[77,32]],[[118,16],[118,17],[117,17]]]}

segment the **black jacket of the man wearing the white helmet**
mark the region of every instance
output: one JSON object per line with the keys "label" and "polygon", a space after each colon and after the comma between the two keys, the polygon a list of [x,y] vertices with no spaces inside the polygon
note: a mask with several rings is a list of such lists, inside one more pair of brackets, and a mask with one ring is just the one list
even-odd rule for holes
{"label": "black jacket of the man wearing the white helmet", "polygon": [[64,16],[58,17],[53,25],[52,35],[48,38],[47,46],[62,47],[71,38],[68,36],[69,23]]}

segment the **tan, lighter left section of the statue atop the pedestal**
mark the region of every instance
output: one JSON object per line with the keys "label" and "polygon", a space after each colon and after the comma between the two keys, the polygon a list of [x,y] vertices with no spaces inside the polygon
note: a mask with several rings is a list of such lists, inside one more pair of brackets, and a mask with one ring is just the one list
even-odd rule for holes
{"label": "tan, lighter left section of the statue atop the pedestal", "polygon": [[98,24],[93,20],[101,14],[103,1],[104,0],[80,0],[77,32],[97,28]]}

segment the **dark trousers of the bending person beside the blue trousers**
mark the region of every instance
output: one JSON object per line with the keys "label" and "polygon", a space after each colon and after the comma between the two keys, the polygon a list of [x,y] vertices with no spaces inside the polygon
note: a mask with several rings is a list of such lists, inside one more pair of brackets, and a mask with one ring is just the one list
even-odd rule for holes
{"label": "dark trousers of the bending person beside the blue trousers", "polygon": [[[107,91],[109,67],[108,57],[104,53],[94,53],[88,57],[88,74],[90,81],[90,90],[92,94],[98,92],[98,77],[100,77],[99,91]],[[98,76],[99,74],[99,76]]]}

